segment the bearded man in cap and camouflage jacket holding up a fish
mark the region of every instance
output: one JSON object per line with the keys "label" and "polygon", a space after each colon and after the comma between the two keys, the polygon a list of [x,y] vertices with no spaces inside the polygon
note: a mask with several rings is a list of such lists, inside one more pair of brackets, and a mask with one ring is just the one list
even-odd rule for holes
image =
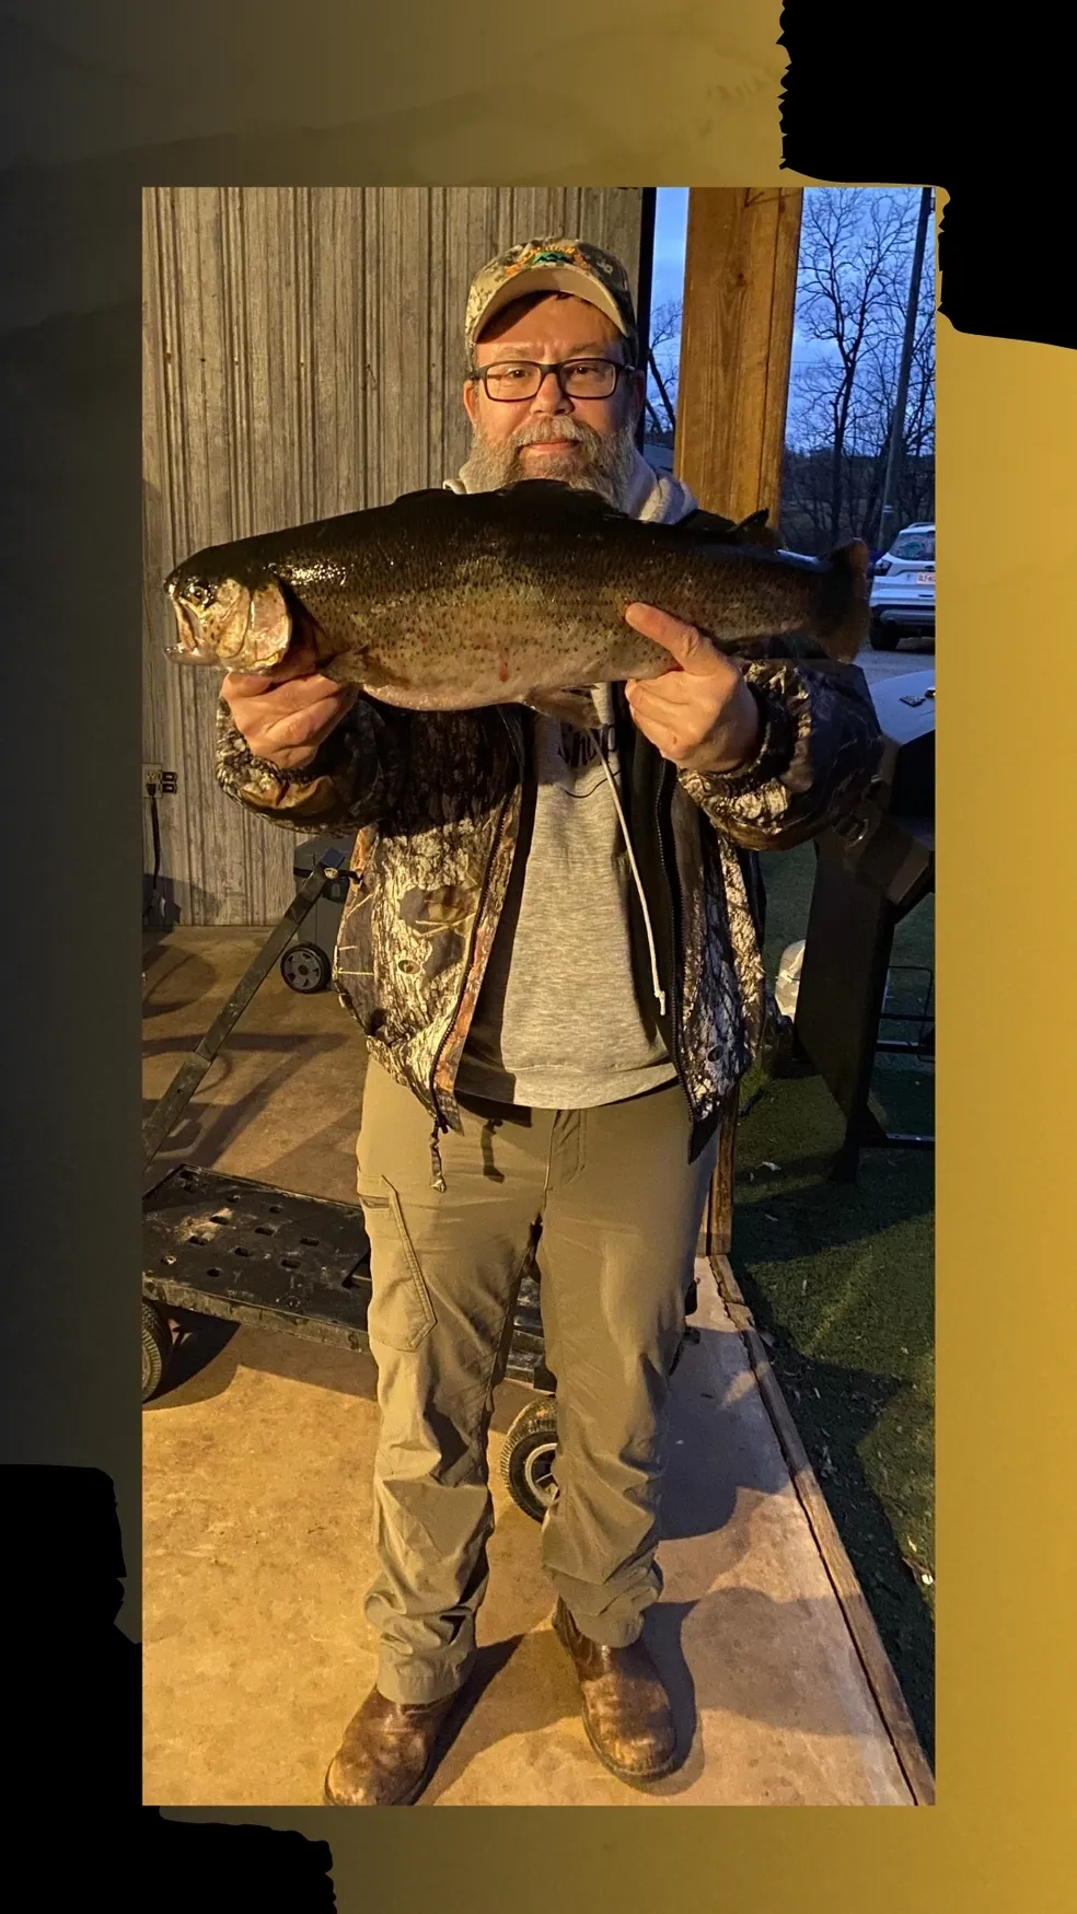
{"label": "bearded man in cap and camouflage jacket holding up a fish", "polygon": [[[614,258],[517,247],[478,274],[465,331],[473,444],[451,490],[545,477],[641,519],[696,511],[635,450],[645,379]],[[369,1047],[381,1656],[327,1774],[335,1805],[415,1801],[467,1696],[486,1436],[532,1254],[557,1378],[555,1631],[606,1767],[647,1784],[677,1759],[641,1631],[662,1587],[668,1378],[761,1034],[754,852],[847,812],[878,733],[840,674],[767,647],[738,666],[662,607],[626,616],[679,670],[593,687],[595,737],[518,706],[388,708],[306,649],[222,687],[224,789],[302,831],[358,829],[337,984]]]}

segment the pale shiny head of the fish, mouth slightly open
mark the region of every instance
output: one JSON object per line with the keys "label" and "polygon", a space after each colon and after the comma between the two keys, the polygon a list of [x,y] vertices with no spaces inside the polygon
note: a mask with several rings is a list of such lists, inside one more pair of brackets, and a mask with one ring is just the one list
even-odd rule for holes
{"label": "pale shiny head of the fish, mouth slightly open", "polygon": [[270,672],[293,637],[293,616],[279,582],[239,578],[207,561],[207,553],[189,559],[165,580],[178,632],[168,657],[180,664],[216,664],[226,672]]}

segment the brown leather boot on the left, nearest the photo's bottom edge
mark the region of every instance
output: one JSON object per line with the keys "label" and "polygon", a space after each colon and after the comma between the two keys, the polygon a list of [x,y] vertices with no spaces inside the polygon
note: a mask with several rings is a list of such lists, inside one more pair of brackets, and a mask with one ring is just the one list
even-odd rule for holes
{"label": "brown leather boot on the left, nearest the photo's bottom edge", "polygon": [[325,1776],[327,1807],[411,1807],[442,1753],[461,1690],[444,1702],[386,1702],[371,1688]]}

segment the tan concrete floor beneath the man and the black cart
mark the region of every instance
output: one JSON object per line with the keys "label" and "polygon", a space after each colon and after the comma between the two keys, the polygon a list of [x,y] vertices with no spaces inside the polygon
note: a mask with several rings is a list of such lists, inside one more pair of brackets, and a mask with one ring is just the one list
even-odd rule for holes
{"label": "tan concrete floor beneath the man and the black cart", "polygon": [[[260,932],[147,946],[145,1097],[168,1085]],[[363,1045],[329,991],[262,986],[163,1152],[354,1200]],[[675,1376],[666,1591],[648,1638],[685,1767],[643,1793],[595,1761],[551,1633],[539,1529],[495,1489],[478,1700],[423,1805],[909,1807],[909,1788],[706,1263]],[[186,1376],[184,1376],[186,1370]],[[209,1324],[143,1411],[143,1795],[306,1807],[369,1688],[375,1370],[365,1355]],[[492,1474],[528,1399],[505,1384]]]}

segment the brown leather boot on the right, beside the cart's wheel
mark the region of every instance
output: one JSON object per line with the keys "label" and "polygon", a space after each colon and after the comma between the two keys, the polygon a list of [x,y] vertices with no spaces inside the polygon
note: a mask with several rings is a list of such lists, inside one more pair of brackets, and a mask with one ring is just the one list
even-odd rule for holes
{"label": "brown leather boot on the right, beside the cart's wheel", "polygon": [[677,1765],[670,1698],[643,1642],[603,1648],[580,1635],[564,1602],[553,1627],[583,1692],[583,1728],[599,1761],[622,1782],[656,1782]]}

